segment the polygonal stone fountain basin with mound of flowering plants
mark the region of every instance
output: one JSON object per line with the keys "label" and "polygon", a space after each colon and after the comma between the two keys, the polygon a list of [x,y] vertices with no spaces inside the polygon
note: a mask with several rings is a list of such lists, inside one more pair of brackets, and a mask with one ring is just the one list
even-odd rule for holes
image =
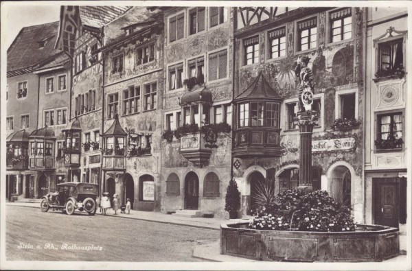
{"label": "polygonal stone fountain basin with mound of flowering plants", "polygon": [[327,191],[258,187],[251,222],[220,226],[220,253],[273,261],[382,261],[399,254],[398,228],[356,225]]}

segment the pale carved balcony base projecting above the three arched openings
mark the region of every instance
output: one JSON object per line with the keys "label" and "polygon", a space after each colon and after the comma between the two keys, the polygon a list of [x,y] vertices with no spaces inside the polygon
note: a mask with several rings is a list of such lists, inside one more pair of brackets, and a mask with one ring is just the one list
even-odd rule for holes
{"label": "pale carved balcony base projecting above the three arched openings", "polygon": [[205,133],[182,134],[180,140],[180,153],[183,157],[198,167],[209,164],[211,149],[205,146],[207,144]]}

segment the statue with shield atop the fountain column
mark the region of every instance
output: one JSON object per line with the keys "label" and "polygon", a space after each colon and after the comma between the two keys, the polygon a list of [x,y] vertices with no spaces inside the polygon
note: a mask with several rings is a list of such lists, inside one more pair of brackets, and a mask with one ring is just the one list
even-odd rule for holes
{"label": "statue with shield atop the fountain column", "polygon": [[295,75],[299,80],[298,99],[299,112],[312,110],[313,104],[313,73],[308,67],[310,58],[304,56],[295,62]]}

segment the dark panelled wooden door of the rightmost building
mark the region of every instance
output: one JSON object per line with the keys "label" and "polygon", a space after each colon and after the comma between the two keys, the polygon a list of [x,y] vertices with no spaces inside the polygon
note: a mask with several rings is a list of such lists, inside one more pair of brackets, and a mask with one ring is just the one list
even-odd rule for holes
{"label": "dark panelled wooden door of the rightmost building", "polygon": [[376,182],[375,184],[375,224],[398,228],[398,183]]}

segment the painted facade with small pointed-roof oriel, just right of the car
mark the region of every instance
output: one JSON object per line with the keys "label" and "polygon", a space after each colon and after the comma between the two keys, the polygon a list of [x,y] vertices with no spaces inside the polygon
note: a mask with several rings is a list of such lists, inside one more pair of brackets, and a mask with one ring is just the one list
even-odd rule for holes
{"label": "painted facade with small pointed-roof oriel, just right of the car", "polygon": [[106,26],[102,181],[135,210],[159,211],[163,16],[131,8]]}

